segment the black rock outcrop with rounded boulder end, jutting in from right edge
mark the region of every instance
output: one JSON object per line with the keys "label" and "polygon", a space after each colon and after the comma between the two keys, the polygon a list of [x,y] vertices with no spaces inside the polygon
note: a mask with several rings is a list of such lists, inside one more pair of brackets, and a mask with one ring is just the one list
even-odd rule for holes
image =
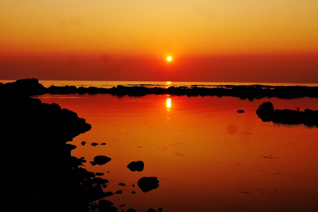
{"label": "black rock outcrop with rounded boulder end, jutting in from right edge", "polygon": [[256,114],[263,122],[283,123],[283,124],[305,124],[307,126],[318,126],[318,110],[305,109],[298,110],[284,109],[274,110],[271,102],[264,102],[256,110]]}

